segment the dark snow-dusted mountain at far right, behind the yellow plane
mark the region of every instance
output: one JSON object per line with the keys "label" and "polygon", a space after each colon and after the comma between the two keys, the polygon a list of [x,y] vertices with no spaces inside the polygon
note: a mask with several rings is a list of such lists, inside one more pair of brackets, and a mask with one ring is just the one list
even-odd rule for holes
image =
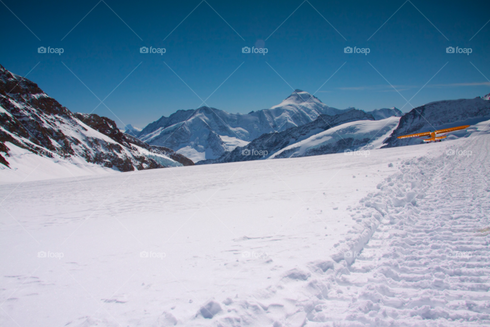
{"label": "dark snow-dusted mountain at far right, behind the yellow plane", "polygon": [[[431,102],[416,107],[405,113],[400,119],[400,124],[386,139],[386,147],[398,147],[405,145],[421,144],[420,138],[402,138],[397,136],[434,131],[437,129],[451,128],[461,125],[476,125],[490,119],[490,95],[475,99],[444,100]],[[448,139],[467,136],[476,127],[461,130],[449,134]]]}

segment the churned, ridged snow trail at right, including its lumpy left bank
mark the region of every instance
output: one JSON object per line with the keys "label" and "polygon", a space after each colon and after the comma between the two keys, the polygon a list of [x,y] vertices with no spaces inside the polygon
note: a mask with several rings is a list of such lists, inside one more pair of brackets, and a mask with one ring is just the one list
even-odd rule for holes
{"label": "churned, ridged snow trail at right, including its lumpy left bank", "polygon": [[241,314],[223,325],[490,324],[490,139],[458,144],[466,154],[448,143],[439,157],[402,160],[352,209],[359,225],[333,260],[287,272],[257,294],[260,306],[229,305]]}

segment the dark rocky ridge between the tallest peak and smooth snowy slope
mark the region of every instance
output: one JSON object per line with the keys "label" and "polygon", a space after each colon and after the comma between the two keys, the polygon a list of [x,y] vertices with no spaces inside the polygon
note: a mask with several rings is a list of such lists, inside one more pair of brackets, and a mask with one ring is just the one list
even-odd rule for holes
{"label": "dark rocky ridge between the tallest peak and smooth snowy slope", "polygon": [[[197,164],[216,164],[220,162],[235,162],[235,161],[250,161],[266,159],[273,156],[276,152],[281,151],[286,147],[298,144],[318,133],[322,133],[326,130],[334,128],[342,124],[350,122],[362,122],[365,120],[374,121],[373,115],[366,113],[362,110],[351,109],[349,111],[339,113],[336,115],[323,114],[319,116],[316,120],[311,123],[291,127],[285,131],[278,133],[267,133],[262,134],[258,138],[254,139],[248,145],[244,147],[237,147],[231,152],[227,152],[217,159],[208,159],[205,161],[198,162]],[[378,124],[379,125],[379,124]],[[364,137],[365,138],[365,137]],[[357,138],[344,138],[342,141],[345,143],[341,146],[342,151],[347,148],[352,148],[358,144],[362,144],[362,140],[359,141]],[[338,152],[338,151],[333,151]],[[329,149],[324,153],[315,154],[326,154],[332,153]]]}

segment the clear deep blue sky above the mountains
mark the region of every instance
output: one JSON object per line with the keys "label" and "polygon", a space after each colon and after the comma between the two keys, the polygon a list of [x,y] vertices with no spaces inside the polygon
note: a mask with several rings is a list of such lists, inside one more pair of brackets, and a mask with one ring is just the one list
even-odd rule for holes
{"label": "clear deep blue sky above the mountains", "polygon": [[[120,127],[195,109],[202,101],[193,91],[203,100],[214,92],[211,107],[247,113],[280,103],[291,87],[313,94],[329,78],[315,96],[340,109],[408,111],[490,92],[488,1],[206,1],[2,0],[0,64],[30,72],[71,111],[92,112],[100,101],[91,91],[101,100],[112,91],[104,101],[112,112],[103,104],[93,112]],[[241,52],[260,44],[267,54]],[[64,53],[39,54],[39,46]],[[141,46],[166,53],[141,54]],[[370,53],[346,54],[346,46]],[[448,54],[448,46],[472,53]],[[402,96],[414,96],[411,105]]]}

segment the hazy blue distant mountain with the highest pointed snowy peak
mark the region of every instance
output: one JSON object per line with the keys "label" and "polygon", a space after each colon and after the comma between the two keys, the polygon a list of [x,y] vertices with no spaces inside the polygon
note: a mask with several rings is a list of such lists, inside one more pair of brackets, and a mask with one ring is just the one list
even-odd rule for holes
{"label": "hazy blue distant mountain with the highest pointed snowy peak", "polygon": [[149,124],[137,137],[151,145],[175,149],[196,162],[218,158],[262,134],[281,132],[310,123],[320,115],[347,110],[350,109],[329,107],[308,92],[297,89],[279,105],[248,114],[209,107],[179,110]]}

